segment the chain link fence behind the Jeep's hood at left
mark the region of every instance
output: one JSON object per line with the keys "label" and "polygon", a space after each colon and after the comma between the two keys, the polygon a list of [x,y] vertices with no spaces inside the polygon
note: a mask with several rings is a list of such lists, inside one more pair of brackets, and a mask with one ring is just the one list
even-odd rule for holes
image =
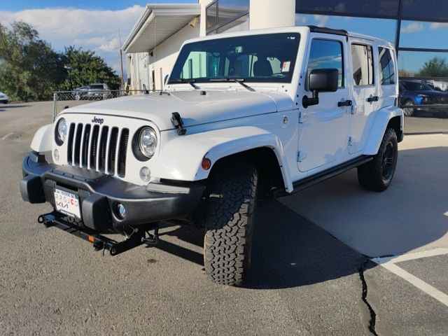
{"label": "chain link fence behind the Jeep's hood at left", "polygon": [[64,109],[99,100],[113,99],[137,94],[149,94],[148,90],[73,90],[53,92],[53,121]]}

